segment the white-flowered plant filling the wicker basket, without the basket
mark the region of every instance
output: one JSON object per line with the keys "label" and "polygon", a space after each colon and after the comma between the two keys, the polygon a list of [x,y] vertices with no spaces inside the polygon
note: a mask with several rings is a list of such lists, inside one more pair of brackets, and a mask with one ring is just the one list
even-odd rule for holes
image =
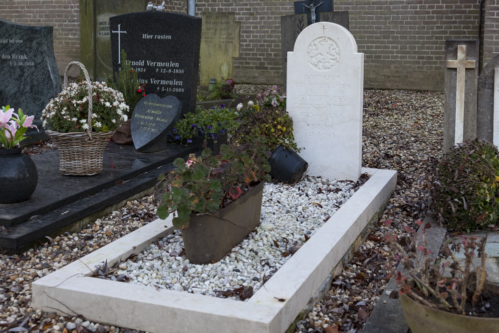
{"label": "white-flowered plant filling the wicker basket, without the basket", "polygon": [[[92,130],[116,130],[128,120],[129,107],[123,94],[108,87],[105,82],[92,82],[92,89]],[[68,84],[43,109],[43,127],[61,133],[84,132],[89,128],[88,98],[86,82]]]}

